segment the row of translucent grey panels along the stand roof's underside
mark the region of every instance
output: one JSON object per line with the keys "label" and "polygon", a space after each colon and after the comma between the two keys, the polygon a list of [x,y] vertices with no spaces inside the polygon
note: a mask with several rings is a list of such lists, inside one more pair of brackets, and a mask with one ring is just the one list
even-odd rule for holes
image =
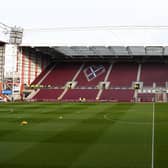
{"label": "row of translucent grey panels along the stand roof's underside", "polygon": [[70,56],[168,56],[168,47],[159,46],[94,46],[54,47],[56,51]]}

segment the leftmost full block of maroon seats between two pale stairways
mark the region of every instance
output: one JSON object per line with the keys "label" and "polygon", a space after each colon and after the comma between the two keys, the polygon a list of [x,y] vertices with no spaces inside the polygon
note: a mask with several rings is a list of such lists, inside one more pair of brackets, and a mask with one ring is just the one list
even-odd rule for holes
{"label": "leftmost full block of maroon seats between two pale stairways", "polygon": [[[82,69],[83,65],[81,65],[79,67],[79,65],[81,64],[63,64],[63,65],[58,65],[58,66],[54,66],[52,67],[52,69],[50,69],[46,75],[41,78],[39,80],[39,85],[43,85],[43,86],[51,86],[51,88],[55,87],[55,85],[59,85],[59,87],[64,87],[66,82],[68,81],[73,81],[75,80],[75,78],[78,76],[78,74],[80,73],[80,70]],[[67,68],[66,68],[67,67]],[[68,69],[68,70],[67,70]],[[78,71],[77,71],[78,70]],[[75,74],[75,75],[74,75]],[[47,93],[47,90],[49,92],[52,92],[55,93],[55,96],[54,94],[49,94],[50,96],[46,97],[44,92],[46,94]],[[59,89],[56,89],[57,91]],[[64,90],[61,89],[61,91],[58,91],[58,93],[56,91],[54,91],[54,89],[37,89],[36,91],[33,91],[32,94],[30,94],[28,96],[27,99],[39,99],[41,100],[42,97],[40,96],[44,96],[44,99],[45,100],[53,100],[53,99],[61,99],[64,94],[67,92],[67,88],[65,88]]]}

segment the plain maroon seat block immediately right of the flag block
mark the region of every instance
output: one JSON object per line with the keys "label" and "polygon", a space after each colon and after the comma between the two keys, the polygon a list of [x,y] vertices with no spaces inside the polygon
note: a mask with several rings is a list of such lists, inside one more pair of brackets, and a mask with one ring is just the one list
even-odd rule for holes
{"label": "plain maroon seat block immediately right of the flag block", "polygon": [[139,78],[140,68],[138,64],[132,63],[114,63],[108,78],[105,81],[110,82],[110,88],[101,91],[99,99],[101,101],[121,101],[131,102],[134,97],[132,82]]}

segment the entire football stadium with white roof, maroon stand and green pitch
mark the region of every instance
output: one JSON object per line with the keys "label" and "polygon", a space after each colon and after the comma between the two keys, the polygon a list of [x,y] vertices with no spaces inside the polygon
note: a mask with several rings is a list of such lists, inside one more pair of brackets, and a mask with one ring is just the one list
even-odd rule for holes
{"label": "entire football stadium with white roof, maroon stand and green pitch", "polygon": [[168,27],[0,23],[0,167],[166,168],[159,34]]}

